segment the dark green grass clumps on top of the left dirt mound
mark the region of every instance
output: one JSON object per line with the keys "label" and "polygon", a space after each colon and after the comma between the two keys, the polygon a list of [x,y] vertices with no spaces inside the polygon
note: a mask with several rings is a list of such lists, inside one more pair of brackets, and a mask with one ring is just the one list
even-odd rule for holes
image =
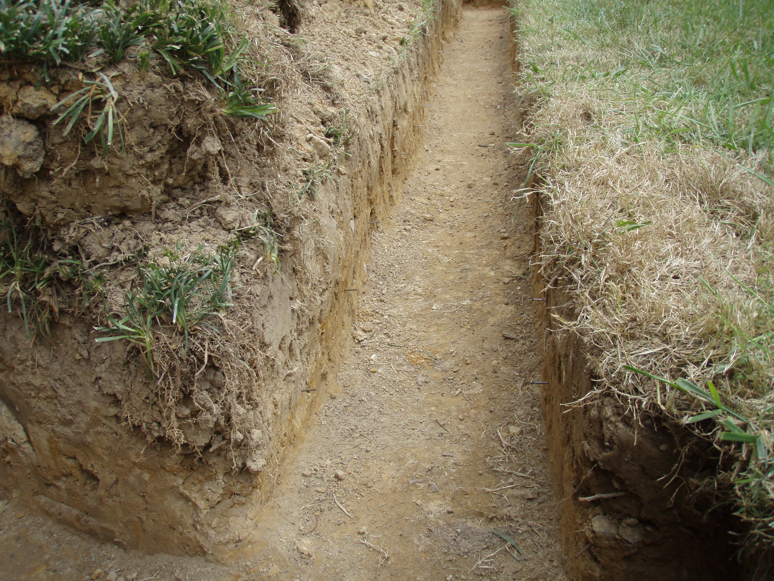
{"label": "dark green grass clumps on top of the left dirt mound", "polygon": [[[70,0],[0,0],[0,57],[41,63],[46,80],[49,67],[64,62],[78,63],[86,57],[106,54],[118,63],[132,46],[146,47],[139,53],[139,68],[145,74],[151,53],[166,63],[172,76],[195,70],[206,77],[221,94],[222,115],[265,119],[276,106],[261,98],[261,88],[245,78],[248,40],[239,36],[224,0],[139,0],[128,9],[104,2],[99,9]],[[85,111],[86,143],[100,135],[107,155],[115,129],[123,146],[120,116],[115,108],[118,94],[108,77],[94,79],[69,95],[53,110],[69,104],[55,122],[69,118],[65,135]],[[102,108],[91,122],[91,104]]]}

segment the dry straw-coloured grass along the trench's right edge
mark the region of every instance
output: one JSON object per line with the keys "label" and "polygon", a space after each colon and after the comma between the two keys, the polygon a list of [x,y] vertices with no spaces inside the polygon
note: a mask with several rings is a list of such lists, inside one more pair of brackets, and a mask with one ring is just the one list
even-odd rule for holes
{"label": "dry straw-coloured grass along the trench's right edge", "polygon": [[[523,76],[526,97],[538,103],[524,140],[536,144],[542,182],[539,263],[550,286],[570,281],[577,317],[560,322],[583,337],[598,379],[577,404],[615,394],[635,414],[647,408],[687,421],[717,406],[624,366],[704,389],[714,381],[723,404],[747,420],[736,421],[741,430],[759,437],[736,445],[731,479],[738,514],[751,525],[747,548],[770,546],[774,191],[745,170],[763,174],[769,150],[724,149],[700,132],[675,139],[672,125],[656,123],[671,106],[661,96],[631,90],[626,77],[594,76],[622,66],[616,46],[563,33],[552,44],[539,15],[519,15],[529,21],[522,66],[537,63]],[[625,50],[636,46],[632,37],[618,40]],[[590,68],[593,81],[584,82]],[[629,82],[666,85],[674,79],[665,68]],[[734,445],[714,420],[691,426],[719,447]]]}

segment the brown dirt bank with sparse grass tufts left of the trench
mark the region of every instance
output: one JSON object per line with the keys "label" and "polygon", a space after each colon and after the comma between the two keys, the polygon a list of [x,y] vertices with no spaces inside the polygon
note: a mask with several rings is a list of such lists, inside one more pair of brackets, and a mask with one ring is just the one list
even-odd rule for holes
{"label": "brown dirt bank with sparse grass tufts left of the trench", "polygon": [[[294,6],[237,12],[270,121],[224,115],[204,77],[160,57],[142,70],[141,50],[49,81],[3,72],[13,135],[34,125],[45,157],[31,177],[34,154],[3,157],[4,256],[42,266],[19,271],[2,315],[0,481],[105,540],[198,553],[248,535],[248,516],[223,515],[270,493],[337,365],[341,291],[365,276],[368,222],[423,125],[416,79],[458,9]],[[51,107],[89,87],[125,151],[54,125]]]}

